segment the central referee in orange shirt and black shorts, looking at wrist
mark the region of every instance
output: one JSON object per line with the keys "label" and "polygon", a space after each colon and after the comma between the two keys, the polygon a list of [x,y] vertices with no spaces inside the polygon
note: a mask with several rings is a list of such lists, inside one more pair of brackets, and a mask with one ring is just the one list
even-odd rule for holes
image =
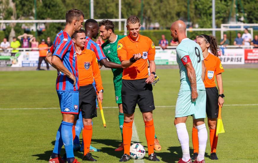
{"label": "central referee in orange shirt and black shorts, looking at wrist", "polygon": [[[136,104],[138,104],[145,123],[145,136],[148,145],[149,160],[160,161],[154,154],[155,129],[152,111],[155,109],[152,94],[156,65],[155,46],[152,40],[139,34],[140,20],[137,16],[127,19],[126,27],[129,35],[120,39],[117,44],[117,55],[123,70],[122,81],[122,106],[124,112],[123,140],[124,155],[119,160],[126,162],[130,159],[130,145],[132,126]],[[150,76],[148,76],[148,62]]]}

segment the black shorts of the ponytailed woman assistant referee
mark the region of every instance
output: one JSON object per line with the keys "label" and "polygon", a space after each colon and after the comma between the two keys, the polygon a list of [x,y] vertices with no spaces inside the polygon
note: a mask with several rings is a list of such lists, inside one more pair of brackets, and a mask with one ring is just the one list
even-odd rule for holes
{"label": "black shorts of the ponytailed woman assistant referee", "polygon": [[205,88],[206,89],[206,114],[210,119],[218,118],[219,114],[219,91],[217,87]]}

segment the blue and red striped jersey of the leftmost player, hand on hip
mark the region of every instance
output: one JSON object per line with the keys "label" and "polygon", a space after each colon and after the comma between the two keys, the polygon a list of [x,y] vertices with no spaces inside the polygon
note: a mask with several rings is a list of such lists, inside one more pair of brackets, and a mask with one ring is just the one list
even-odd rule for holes
{"label": "blue and red striped jersey of the leftmost player, hand on hip", "polygon": [[52,56],[58,56],[62,61],[63,65],[75,76],[76,84],[74,86],[74,81],[66,76],[63,72],[57,71],[56,79],[56,90],[74,92],[79,90],[78,81],[78,68],[77,68],[77,56],[75,52],[75,47],[71,37],[65,31],[60,31],[57,33],[55,40],[49,52]]}

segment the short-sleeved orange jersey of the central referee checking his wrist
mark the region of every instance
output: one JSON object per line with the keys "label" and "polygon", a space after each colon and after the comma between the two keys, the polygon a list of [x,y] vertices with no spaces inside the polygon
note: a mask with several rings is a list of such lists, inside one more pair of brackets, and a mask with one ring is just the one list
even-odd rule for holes
{"label": "short-sleeved orange jersey of the central referee checking his wrist", "polygon": [[154,60],[155,46],[149,37],[139,35],[136,41],[130,35],[120,39],[117,44],[117,55],[122,60],[129,60],[133,54],[141,53],[142,57],[123,71],[122,79],[135,80],[148,78],[148,62]]}

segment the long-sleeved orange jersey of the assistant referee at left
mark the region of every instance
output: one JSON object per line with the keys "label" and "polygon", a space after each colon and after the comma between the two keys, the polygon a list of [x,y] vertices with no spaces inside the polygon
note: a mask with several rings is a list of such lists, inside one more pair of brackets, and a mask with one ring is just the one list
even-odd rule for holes
{"label": "long-sleeved orange jersey of the assistant referee at left", "polygon": [[98,60],[92,50],[83,49],[81,54],[77,53],[77,67],[80,86],[92,84],[94,78],[97,91],[103,89]]}

